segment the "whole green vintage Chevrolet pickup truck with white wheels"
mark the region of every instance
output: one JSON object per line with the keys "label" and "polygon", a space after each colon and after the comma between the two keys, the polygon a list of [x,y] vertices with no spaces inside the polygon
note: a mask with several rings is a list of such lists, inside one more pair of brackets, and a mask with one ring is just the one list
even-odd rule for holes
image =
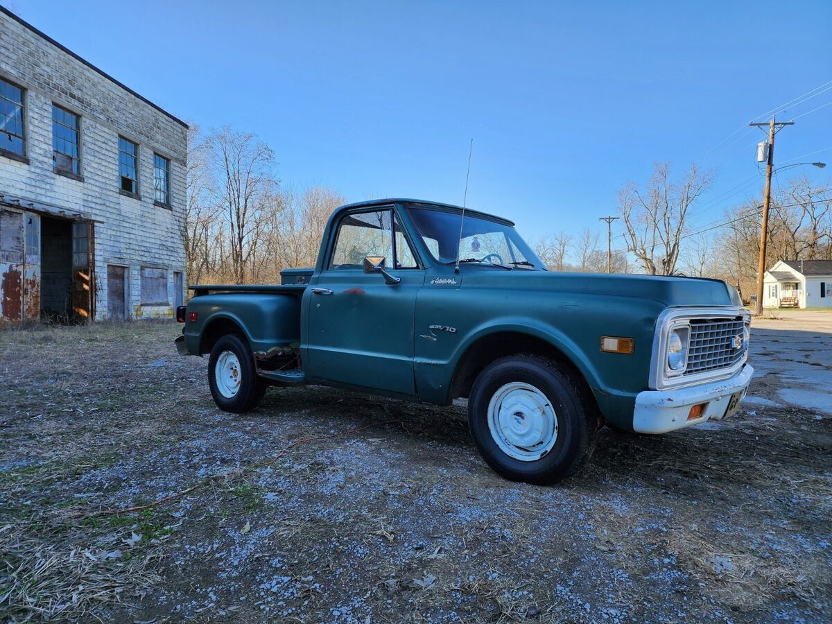
{"label": "whole green vintage Chevrolet pickup truck with white wheels", "polygon": [[448,405],[468,399],[485,461],[556,483],[603,424],[666,433],[735,414],[750,314],[721,280],[557,273],[513,223],[407,199],[341,206],[314,269],[280,285],[196,285],[181,354],[205,355],[214,401],[328,385]]}

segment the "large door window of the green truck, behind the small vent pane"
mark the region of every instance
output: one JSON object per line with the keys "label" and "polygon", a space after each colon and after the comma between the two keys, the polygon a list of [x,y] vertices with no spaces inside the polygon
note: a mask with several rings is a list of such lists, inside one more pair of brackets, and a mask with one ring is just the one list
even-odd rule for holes
{"label": "large door window of the green truck, behind the small vent pane", "polygon": [[389,210],[344,216],[338,227],[329,268],[360,269],[366,255],[383,255],[388,265],[393,264],[393,227]]}

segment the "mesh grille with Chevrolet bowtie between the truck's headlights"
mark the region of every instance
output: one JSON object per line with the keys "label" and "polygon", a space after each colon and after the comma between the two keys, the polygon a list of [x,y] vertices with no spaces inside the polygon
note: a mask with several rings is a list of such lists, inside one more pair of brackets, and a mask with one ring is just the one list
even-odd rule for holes
{"label": "mesh grille with Chevrolet bowtie between the truck's headlights", "polygon": [[745,319],[691,319],[691,342],[688,346],[687,369],[685,374],[702,373],[706,370],[728,369],[738,364],[748,349],[743,341],[740,348],[734,346],[734,339],[742,340]]}

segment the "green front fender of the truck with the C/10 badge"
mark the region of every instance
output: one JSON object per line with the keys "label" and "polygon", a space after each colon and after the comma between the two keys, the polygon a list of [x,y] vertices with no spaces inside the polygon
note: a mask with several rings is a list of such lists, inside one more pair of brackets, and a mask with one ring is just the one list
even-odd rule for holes
{"label": "green front fender of the truck with the C/10 badge", "polygon": [[[612,409],[620,411],[646,388],[656,317],[664,307],[656,301],[622,296],[522,292],[512,293],[510,300],[488,294],[450,300],[431,294],[424,303],[417,310],[415,332],[414,372],[420,399],[447,404],[458,365],[479,340],[492,334],[525,334],[551,345],[575,366],[605,416]],[[511,311],[499,314],[508,305]],[[427,334],[425,329],[437,320],[455,332]],[[602,352],[605,335],[635,339],[634,353]],[[500,351],[512,352],[510,348]]]}

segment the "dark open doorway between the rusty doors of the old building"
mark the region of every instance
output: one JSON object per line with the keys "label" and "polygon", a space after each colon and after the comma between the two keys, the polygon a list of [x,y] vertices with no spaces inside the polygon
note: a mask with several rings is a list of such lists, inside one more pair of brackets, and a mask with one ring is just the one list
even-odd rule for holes
{"label": "dark open doorway between the rusty doors of the old building", "polygon": [[72,303],[72,221],[41,217],[41,317],[67,320]]}

